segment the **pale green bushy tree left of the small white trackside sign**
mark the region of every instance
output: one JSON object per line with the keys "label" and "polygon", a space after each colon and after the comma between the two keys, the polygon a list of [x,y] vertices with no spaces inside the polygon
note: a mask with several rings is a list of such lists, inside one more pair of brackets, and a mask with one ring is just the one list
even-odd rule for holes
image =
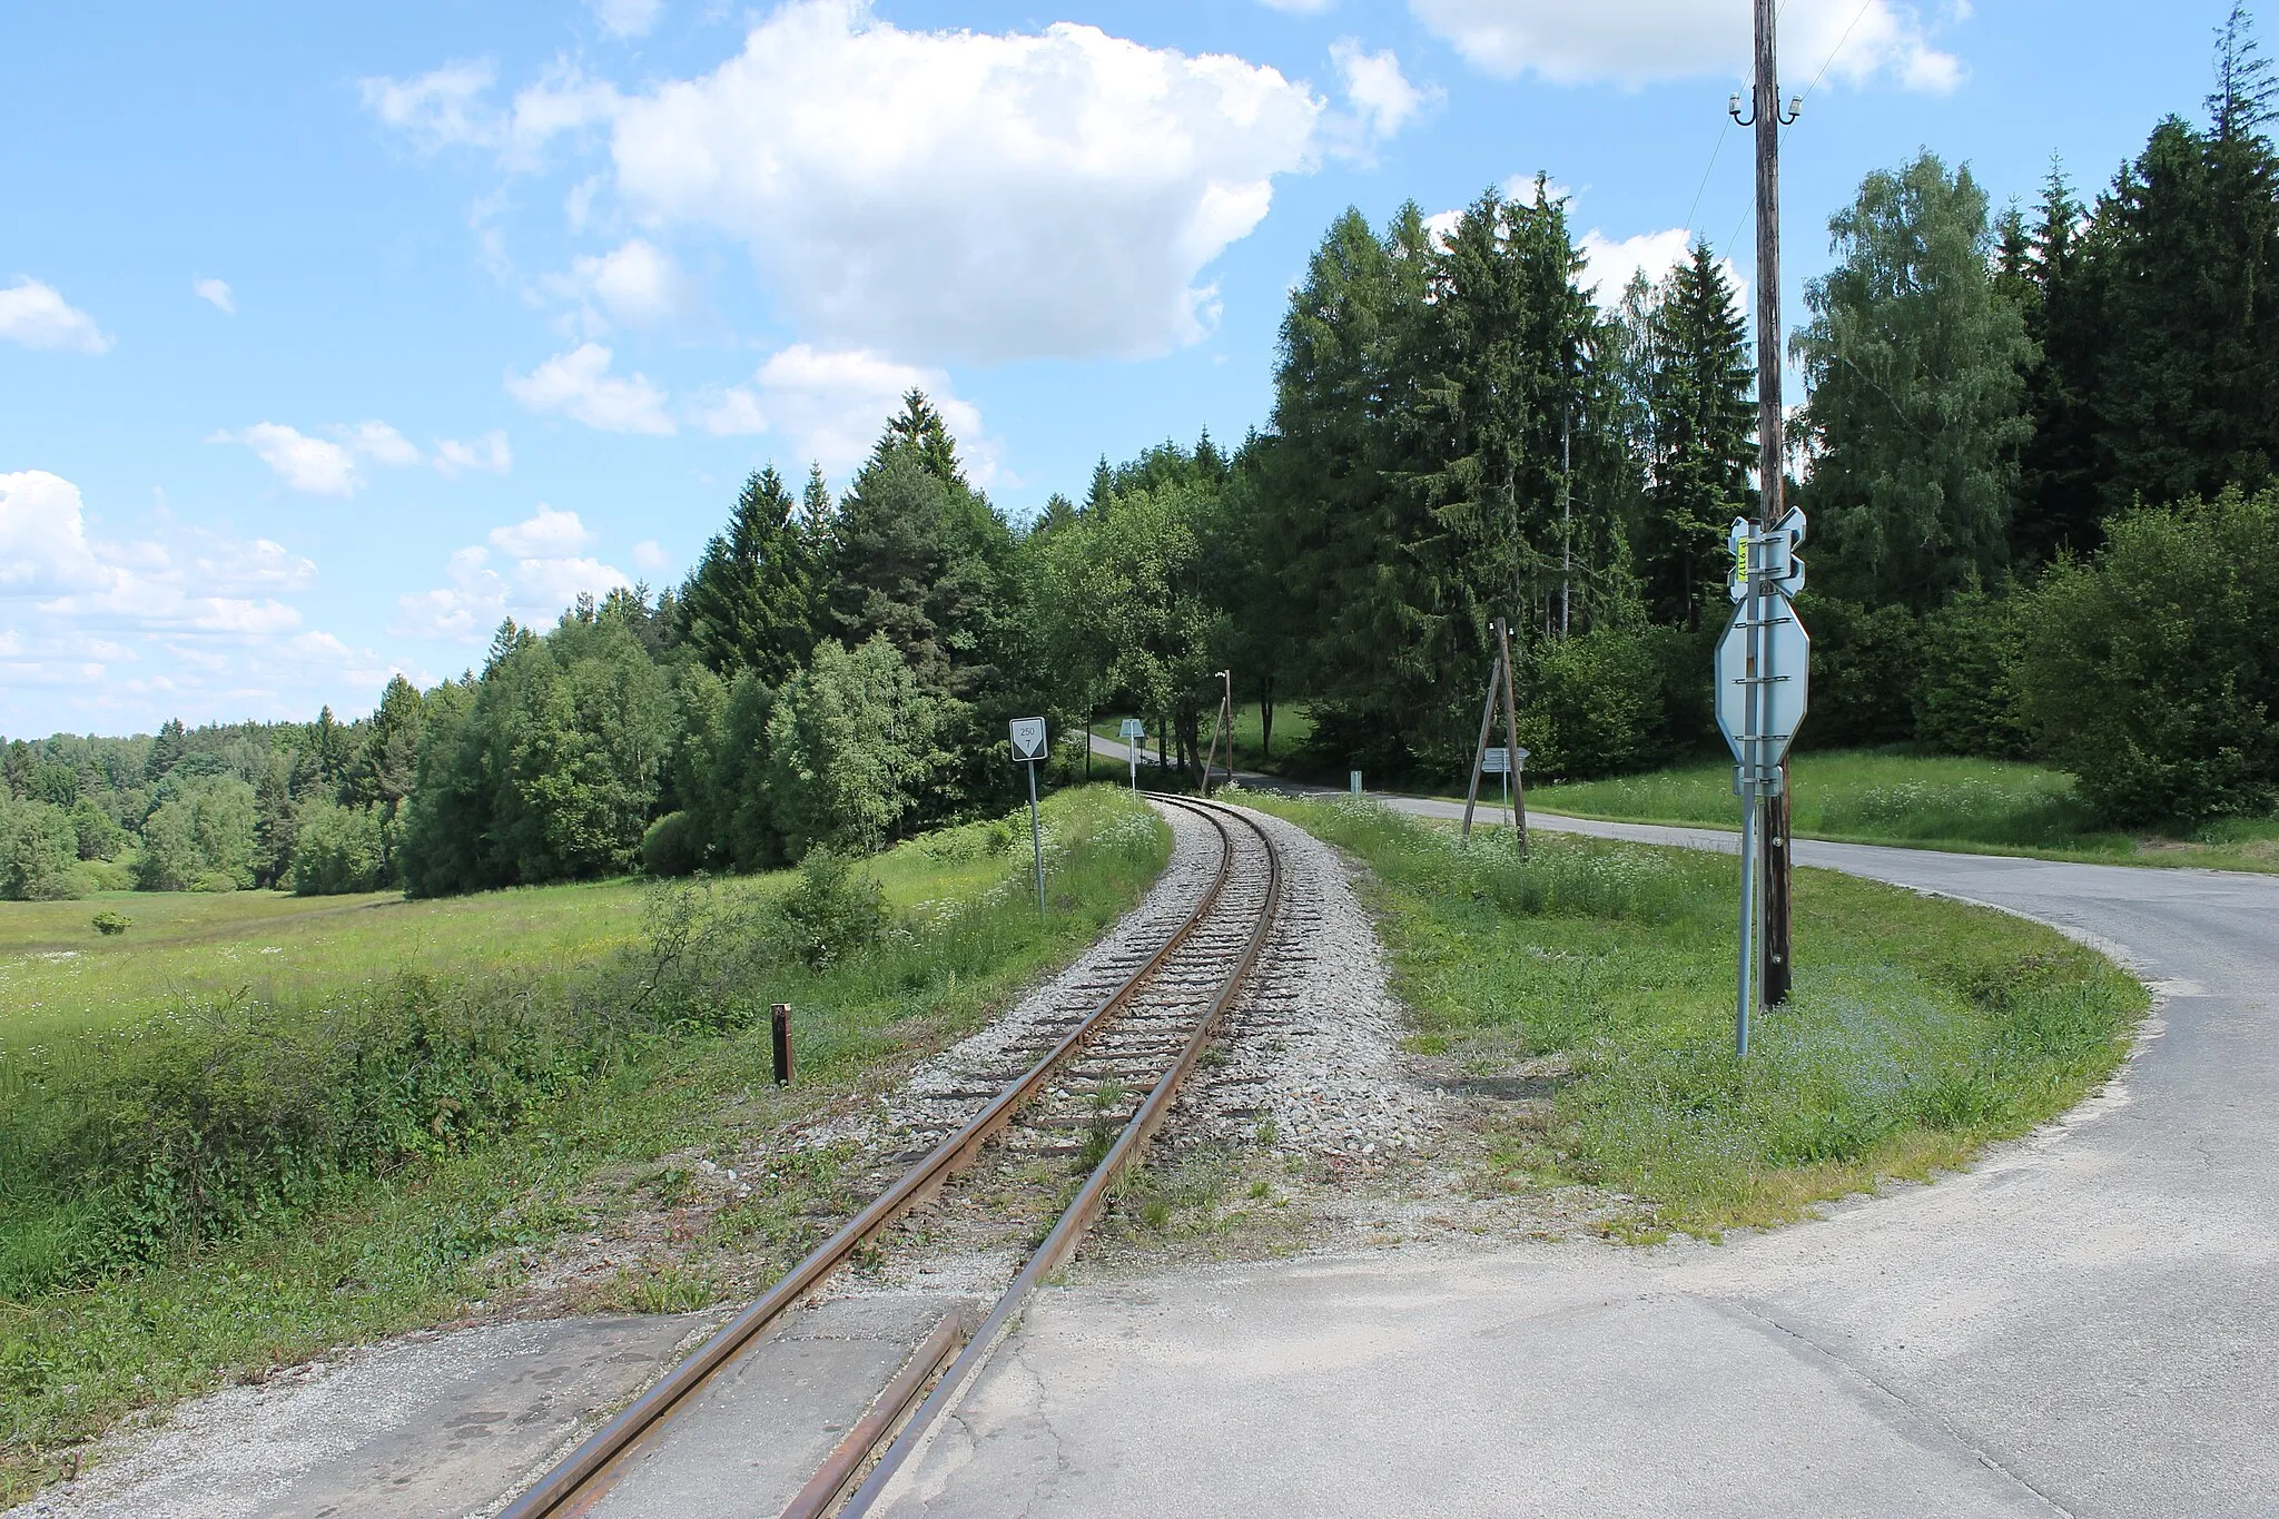
{"label": "pale green bushy tree left of the small white trackside sign", "polygon": [[941,763],[939,720],[884,633],[857,649],[816,644],[768,715],[768,806],[786,849],[871,852],[891,840]]}

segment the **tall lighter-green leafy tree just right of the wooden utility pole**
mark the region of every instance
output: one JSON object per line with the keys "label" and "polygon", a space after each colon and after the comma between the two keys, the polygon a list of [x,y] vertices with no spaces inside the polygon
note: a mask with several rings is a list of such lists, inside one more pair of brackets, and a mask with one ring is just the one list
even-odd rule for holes
{"label": "tall lighter-green leafy tree just right of the wooden utility pole", "polygon": [[1999,583],[2031,433],[2024,314],[1990,276],[1987,200],[1923,153],[1830,216],[1839,264],[1805,285],[1814,576],[1867,604],[1939,606]]}

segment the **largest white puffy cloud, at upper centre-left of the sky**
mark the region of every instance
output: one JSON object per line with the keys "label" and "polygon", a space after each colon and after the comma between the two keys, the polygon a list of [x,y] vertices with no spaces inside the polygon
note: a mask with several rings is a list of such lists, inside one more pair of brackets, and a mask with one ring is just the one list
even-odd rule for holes
{"label": "largest white puffy cloud, at upper centre-left of the sky", "polygon": [[1274,68],[1087,25],[795,0],[713,73],[624,98],[611,153],[640,219],[743,239],[834,346],[1144,355],[1208,330],[1203,269],[1313,166],[1324,109]]}

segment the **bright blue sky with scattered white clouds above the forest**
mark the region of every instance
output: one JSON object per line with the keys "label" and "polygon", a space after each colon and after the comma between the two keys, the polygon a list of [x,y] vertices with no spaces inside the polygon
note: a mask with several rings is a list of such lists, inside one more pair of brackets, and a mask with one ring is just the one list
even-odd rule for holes
{"label": "bright blue sky with scattered white clouds above the forest", "polygon": [[[1996,203],[2199,116],[2224,0],[1787,0],[1784,285],[1919,146]],[[1750,278],[1748,0],[14,7],[0,733],[374,706],[677,581],[918,383],[1014,517],[1267,419],[1347,205],[1547,173]]]}

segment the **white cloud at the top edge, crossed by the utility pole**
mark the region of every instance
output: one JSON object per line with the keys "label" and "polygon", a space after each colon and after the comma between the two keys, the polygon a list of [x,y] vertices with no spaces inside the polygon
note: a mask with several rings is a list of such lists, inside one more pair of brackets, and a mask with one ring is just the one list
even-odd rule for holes
{"label": "white cloud at the top edge, crossed by the utility pole", "polygon": [[[1559,84],[1650,84],[1705,73],[1741,75],[1750,9],[1705,0],[1408,0],[1420,23],[1481,73],[1534,73]],[[1823,61],[1835,77],[1892,75],[1908,89],[1951,91],[1962,64],[1930,43],[1921,16],[1894,0],[1787,0],[1780,11],[1789,93]]]}

